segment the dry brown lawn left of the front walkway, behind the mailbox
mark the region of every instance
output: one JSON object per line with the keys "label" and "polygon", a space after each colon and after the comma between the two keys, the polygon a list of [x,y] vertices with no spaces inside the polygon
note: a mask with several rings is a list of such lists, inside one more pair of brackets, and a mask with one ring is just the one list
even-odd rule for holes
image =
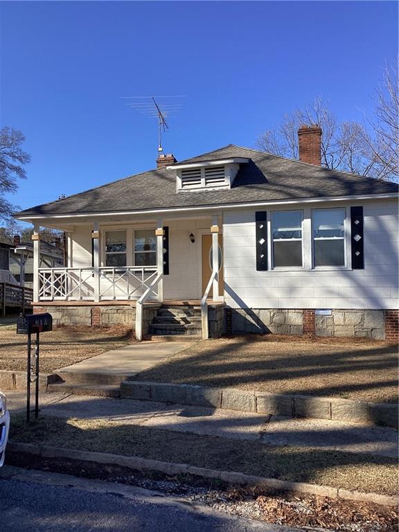
{"label": "dry brown lawn left of the front walkway, behind the mailbox", "polygon": [[[40,335],[40,371],[51,373],[109,349],[123,347],[134,340],[132,329],[125,326],[110,328],[58,327]],[[0,370],[26,370],[25,335],[17,335],[15,326],[0,328]]]}

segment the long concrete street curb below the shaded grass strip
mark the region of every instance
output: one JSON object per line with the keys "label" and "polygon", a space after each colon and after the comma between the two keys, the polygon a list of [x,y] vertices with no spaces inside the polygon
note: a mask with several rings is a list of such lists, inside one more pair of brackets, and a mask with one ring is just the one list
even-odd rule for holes
{"label": "long concrete street curb below the shaded grass strip", "polygon": [[254,475],[245,475],[245,473],[240,472],[198,468],[195,465],[188,465],[187,463],[162,462],[159,460],[141,458],[140,456],[123,456],[121,454],[109,454],[105,452],[80,451],[76,449],[64,449],[62,447],[51,447],[50,445],[36,445],[35,443],[19,443],[12,441],[8,443],[8,451],[31,454],[32,456],[39,456],[41,458],[64,458],[122,465],[134,470],[159,471],[166,475],[196,475],[197,477],[205,477],[209,479],[221,479],[233,484],[264,486],[265,488],[272,488],[274,490],[308,493],[310,495],[319,495],[319,497],[330,497],[331,499],[371,502],[374,504],[382,504],[383,506],[396,506],[397,504],[397,498],[390,495],[344,490],[342,488],[319,486],[318,484],[308,484],[306,482],[289,482],[267,477],[256,477]]}

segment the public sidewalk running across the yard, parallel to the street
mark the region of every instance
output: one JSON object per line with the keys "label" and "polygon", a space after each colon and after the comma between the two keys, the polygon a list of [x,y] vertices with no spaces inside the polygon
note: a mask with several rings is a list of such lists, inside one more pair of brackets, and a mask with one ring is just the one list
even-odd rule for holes
{"label": "public sidewalk running across the yard, parallel to the street", "polygon": [[[24,411],[23,392],[7,395],[12,412]],[[40,402],[42,416],[102,419],[112,425],[141,425],[267,445],[318,447],[375,456],[398,454],[398,432],[385,427],[63,393],[42,393]]]}

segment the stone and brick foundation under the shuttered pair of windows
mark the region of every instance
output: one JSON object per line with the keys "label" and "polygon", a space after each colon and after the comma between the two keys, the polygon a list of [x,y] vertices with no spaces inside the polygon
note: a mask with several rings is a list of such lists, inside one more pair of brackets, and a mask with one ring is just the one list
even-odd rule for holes
{"label": "stone and brick foundation under the shuttered pair of windows", "polygon": [[312,334],[323,337],[369,337],[398,341],[398,310],[226,309],[231,333],[278,335]]}

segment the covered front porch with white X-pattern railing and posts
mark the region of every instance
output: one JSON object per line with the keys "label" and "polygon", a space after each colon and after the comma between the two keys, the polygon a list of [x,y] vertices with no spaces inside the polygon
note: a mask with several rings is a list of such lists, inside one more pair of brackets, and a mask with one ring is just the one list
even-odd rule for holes
{"label": "covered front porch with white X-pattern railing and posts", "polygon": [[66,267],[39,265],[41,225],[33,233],[37,307],[130,305],[142,339],[144,305],[190,301],[201,308],[202,335],[209,337],[208,305],[223,302],[220,215],[62,220],[51,227],[67,233]]}

